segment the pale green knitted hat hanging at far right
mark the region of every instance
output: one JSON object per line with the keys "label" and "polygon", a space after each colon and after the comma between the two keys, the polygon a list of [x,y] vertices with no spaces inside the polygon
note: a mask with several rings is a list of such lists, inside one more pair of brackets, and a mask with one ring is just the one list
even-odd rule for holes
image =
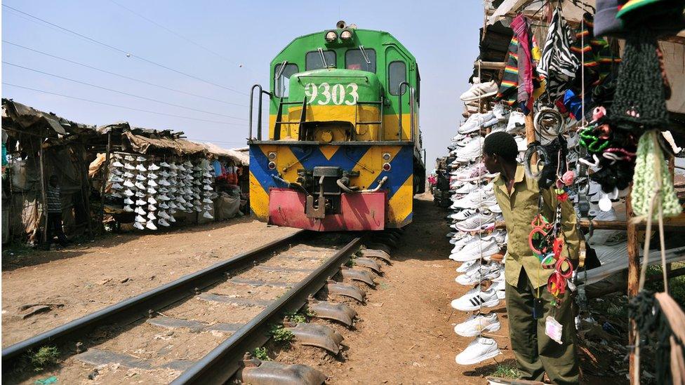
{"label": "pale green knitted hat hanging at far right", "polygon": [[[651,130],[642,135],[637,144],[637,159],[630,193],[632,210],[637,216],[648,216],[652,198],[656,194],[658,185],[661,184],[656,205],[661,205],[664,217],[675,217],[682,212],[682,208],[678,202],[663,152],[659,147],[657,135],[660,135],[658,130]],[[655,206],[652,210],[652,218],[658,219],[658,214],[658,206]]]}

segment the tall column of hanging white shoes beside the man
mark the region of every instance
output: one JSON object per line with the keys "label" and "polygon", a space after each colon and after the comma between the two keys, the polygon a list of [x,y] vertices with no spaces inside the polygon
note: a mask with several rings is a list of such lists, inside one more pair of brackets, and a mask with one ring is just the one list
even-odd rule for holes
{"label": "tall column of hanging white shoes beside the man", "polygon": [[[460,263],[455,283],[472,287],[451,302],[453,309],[471,313],[454,327],[458,336],[472,339],[466,349],[455,356],[459,365],[474,365],[501,354],[497,342],[488,337],[488,333],[501,327],[497,314],[490,309],[499,306],[505,297],[507,235],[504,230],[495,228],[496,222],[502,220],[502,210],[493,192],[492,180],[496,175],[486,170],[481,151],[488,133],[495,130],[517,132],[524,127],[517,114],[510,117],[512,114],[501,105],[490,103],[494,95],[491,85],[476,84],[476,90],[468,91],[468,96],[463,95],[468,103],[465,112],[468,119],[452,138],[444,170],[449,194],[446,219],[452,229],[447,237],[453,245],[449,259]],[[440,175],[440,168],[437,170]]]}

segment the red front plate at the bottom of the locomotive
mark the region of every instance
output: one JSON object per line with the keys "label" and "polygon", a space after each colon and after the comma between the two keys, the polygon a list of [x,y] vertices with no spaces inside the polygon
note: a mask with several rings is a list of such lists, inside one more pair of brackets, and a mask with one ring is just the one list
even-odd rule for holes
{"label": "red front plate at the bottom of the locomotive", "polygon": [[305,194],[291,189],[269,191],[269,223],[314,231],[361,231],[385,229],[385,191],[343,193],[340,214],[324,219],[307,218]]}

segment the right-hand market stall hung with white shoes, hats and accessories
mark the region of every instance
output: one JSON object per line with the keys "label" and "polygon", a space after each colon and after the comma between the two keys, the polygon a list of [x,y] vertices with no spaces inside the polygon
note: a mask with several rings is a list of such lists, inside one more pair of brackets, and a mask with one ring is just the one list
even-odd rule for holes
{"label": "right-hand market stall hung with white shoes, hats and accessories", "polygon": [[[663,296],[656,303],[655,296],[642,291],[646,266],[663,265],[666,292],[668,278],[684,273],[670,269],[670,264],[685,259],[682,237],[671,236],[685,231],[685,191],[681,182],[674,183],[685,147],[685,18],[681,6],[660,8],[663,1],[630,1],[623,8],[616,1],[598,3],[486,2],[480,55],[470,79],[473,86],[461,97],[468,119],[458,128],[447,158],[453,194],[448,219],[455,229],[449,234],[455,244],[451,259],[464,262],[458,271],[465,275],[458,282],[478,282],[480,290],[455,299],[453,307],[471,310],[473,303],[488,302],[501,287],[499,268],[491,259],[506,248],[498,249],[488,233],[510,229],[511,224],[498,222],[501,209],[492,203],[492,184],[479,163],[480,151],[483,137],[491,133],[516,135],[526,178],[536,180],[541,191],[551,188],[557,201],[572,202],[575,211],[572,217],[558,209],[540,211],[540,220],[531,222],[530,248],[540,259],[544,276],[554,277],[545,290],[557,307],[564,303],[565,291],[576,292],[582,310],[590,295],[616,291],[621,285],[627,288],[635,298],[630,302],[632,327],[625,349],[631,357],[631,382],[639,383],[639,344],[653,342],[654,332],[644,311],[670,306]],[[643,12],[650,17],[642,18]],[[473,158],[478,160],[472,162]],[[571,244],[560,224],[568,221],[576,223],[582,235],[576,245],[577,266],[562,262],[561,251]],[[474,222],[479,224],[476,235],[465,236],[465,231],[473,231]],[[658,246],[650,248],[654,243]],[[474,247],[480,252],[470,251]],[[593,259],[595,252],[598,257]],[[597,286],[622,271],[623,281]],[[493,283],[484,288],[484,280]],[[467,322],[496,325],[480,313],[481,307],[476,306],[477,314]],[[681,322],[677,319],[669,314],[658,322],[675,325]],[[584,325],[579,320],[576,324]],[[455,332],[472,335],[463,334],[469,327],[458,325]],[[638,330],[642,339],[636,337]],[[670,346],[678,351],[682,343],[674,336]],[[652,348],[658,354],[669,349]],[[474,357],[497,352],[493,341],[477,337],[457,362],[472,364]],[[676,382],[670,377],[676,371],[667,366],[658,368],[659,381]]]}

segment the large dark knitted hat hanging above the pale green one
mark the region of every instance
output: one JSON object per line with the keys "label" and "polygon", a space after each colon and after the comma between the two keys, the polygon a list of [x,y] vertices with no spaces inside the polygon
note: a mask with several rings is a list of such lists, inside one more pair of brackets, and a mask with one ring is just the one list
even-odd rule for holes
{"label": "large dark knitted hat hanging above the pale green one", "polygon": [[668,124],[657,48],[656,34],[649,29],[627,36],[610,114],[616,127],[641,131]]}

